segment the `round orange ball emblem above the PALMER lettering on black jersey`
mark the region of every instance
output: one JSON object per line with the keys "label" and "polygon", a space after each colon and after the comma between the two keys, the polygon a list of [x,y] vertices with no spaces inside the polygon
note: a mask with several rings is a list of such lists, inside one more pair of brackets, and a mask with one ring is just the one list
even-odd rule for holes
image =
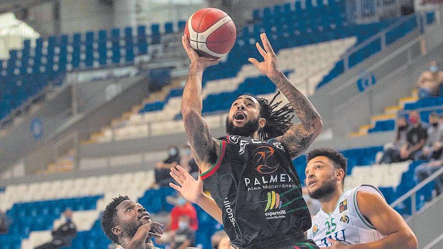
{"label": "round orange ball emblem above the PALMER lettering on black jersey", "polygon": [[270,146],[260,146],[254,150],[254,166],[260,174],[271,174],[278,169],[280,164],[273,156],[274,153],[274,148]]}

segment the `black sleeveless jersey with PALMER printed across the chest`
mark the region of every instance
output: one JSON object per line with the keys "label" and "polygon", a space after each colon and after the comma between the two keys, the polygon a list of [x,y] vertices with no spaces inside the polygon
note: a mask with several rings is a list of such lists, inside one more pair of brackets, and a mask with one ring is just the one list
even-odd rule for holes
{"label": "black sleeveless jersey with PALMER printed across the chest", "polygon": [[239,248],[300,242],[311,216],[286,148],[275,138],[227,136],[219,142],[216,163],[200,176],[223,212],[231,242]]}

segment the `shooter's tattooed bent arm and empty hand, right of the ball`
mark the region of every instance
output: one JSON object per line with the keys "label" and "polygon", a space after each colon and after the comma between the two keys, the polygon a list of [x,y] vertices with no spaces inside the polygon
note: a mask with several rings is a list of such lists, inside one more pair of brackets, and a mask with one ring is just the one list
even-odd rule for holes
{"label": "shooter's tattooed bent arm and empty hand, right of the ball", "polygon": [[322,118],[312,103],[294,86],[289,79],[278,70],[277,56],[272,50],[266,34],[260,35],[264,50],[256,43],[257,49],[264,61],[258,62],[249,58],[259,71],[266,74],[291,104],[301,123],[293,124],[282,136],[278,137],[281,143],[289,150],[292,158],[302,154],[320,134],[323,126]]}

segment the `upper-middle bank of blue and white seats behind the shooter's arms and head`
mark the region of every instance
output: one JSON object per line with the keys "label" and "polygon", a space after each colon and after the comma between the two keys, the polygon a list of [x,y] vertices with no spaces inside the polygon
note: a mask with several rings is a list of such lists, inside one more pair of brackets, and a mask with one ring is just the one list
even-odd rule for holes
{"label": "upper-middle bank of blue and white seats behind the shooter's arms and head", "polygon": [[[279,58],[280,68],[288,73],[289,79],[302,92],[309,94],[309,88],[313,89],[322,78],[324,79],[319,86],[343,72],[344,62],[340,60],[340,56],[346,49],[358,45],[396,22],[402,23],[386,33],[387,45],[417,28],[416,16],[406,17],[405,20],[388,19],[380,23],[350,25],[343,17],[343,5],[342,1],[330,1],[330,5],[317,3],[316,7],[308,5],[306,9],[302,9],[297,2],[296,5],[276,5],[255,10],[252,24],[245,26],[238,35],[226,61],[207,68],[204,73],[203,115],[208,123],[211,123],[210,127],[223,125],[219,122],[219,115],[228,110],[228,104],[238,94],[248,92],[261,97],[272,97],[271,94],[275,93],[273,84],[261,76],[253,66],[248,65],[247,61],[248,57],[260,57],[253,44],[259,41],[261,32],[266,32],[271,40]],[[434,21],[433,15],[427,14],[428,23]],[[350,55],[349,66],[358,64],[380,49],[380,39],[369,43]],[[223,73],[220,73],[221,71]],[[312,86],[306,83],[308,79],[314,83]],[[121,140],[184,132],[180,121],[182,91],[183,89],[176,88],[163,100],[143,103],[138,113],[113,122],[113,127],[105,127],[101,132],[92,134],[88,142],[108,142],[112,138]],[[285,102],[284,99],[282,101]],[[374,124],[380,122],[377,123],[377,127],[366,126],[366,133],[368,130],[377,132],[392,129],[392,117],[390,114],[389,117],[375,118]]]}

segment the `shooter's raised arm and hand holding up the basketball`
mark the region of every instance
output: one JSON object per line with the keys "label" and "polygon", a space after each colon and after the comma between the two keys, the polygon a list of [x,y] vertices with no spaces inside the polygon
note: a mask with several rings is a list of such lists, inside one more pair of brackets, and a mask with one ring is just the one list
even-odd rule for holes
{"label": "shooter's raised arm and hand holding up the basketball", "polygon": [[201,82],[204,69],[217,64],[220,59],[210,60],[199,57],[186,36],[182,37],[182,43],[191,60],[191,65],[183,90],[181,112],[195,161],[200,171],[205,172],[210,168],[210,164],[215,162],[219,146],[215,145],[217,141],[212,138],[211,132],[201,116],[203,108]]}

